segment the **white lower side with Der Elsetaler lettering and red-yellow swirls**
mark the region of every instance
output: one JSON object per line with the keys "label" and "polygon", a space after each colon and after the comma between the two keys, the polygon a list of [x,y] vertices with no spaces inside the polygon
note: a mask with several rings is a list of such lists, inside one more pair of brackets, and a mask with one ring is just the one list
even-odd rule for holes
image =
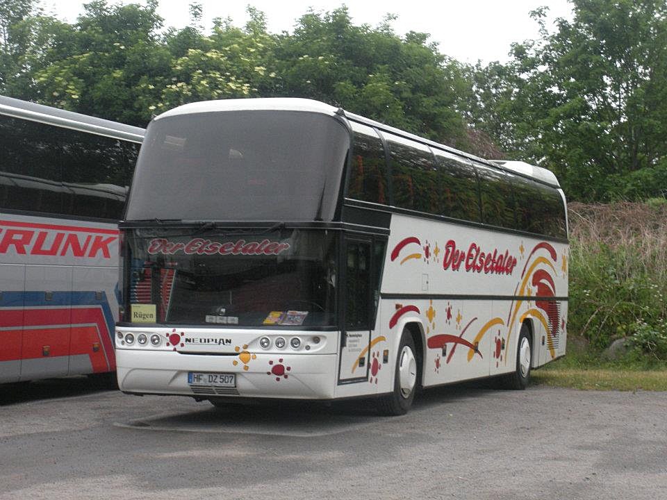
{"label": "white lower side with Der Elsetaler lettering and red-yellow swirls", "polygon": [[420,326],[425,386],[512,372],[524,321],[532,365],[543,365],[565,353],[568,252],[566,243],[393,215],[382,336],[395,352],[403,326]]}

